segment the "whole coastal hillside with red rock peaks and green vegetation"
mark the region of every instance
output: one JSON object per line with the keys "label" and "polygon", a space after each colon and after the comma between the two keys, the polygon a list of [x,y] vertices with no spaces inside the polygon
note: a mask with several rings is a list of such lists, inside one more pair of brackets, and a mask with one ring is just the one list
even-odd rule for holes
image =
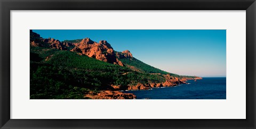
{"label": "whole coastal hillside with red rock peaks and green vegetation", "polygon": [[102,40],[44,39],[30,31],[30,99],[134,99],[120,90],[173,87],[188,79],[114,51]]}

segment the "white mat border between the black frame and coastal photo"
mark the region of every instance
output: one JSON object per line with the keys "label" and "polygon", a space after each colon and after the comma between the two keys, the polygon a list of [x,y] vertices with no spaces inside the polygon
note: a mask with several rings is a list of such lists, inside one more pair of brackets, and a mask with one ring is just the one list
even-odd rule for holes
{"label": "white mat border between the black frame and coastal photo", "polygon": [[[227,99],[30,100],[29,29],[227,29]],[[245,119],[245,36],[245,11],[11,11],[11,119]]]}

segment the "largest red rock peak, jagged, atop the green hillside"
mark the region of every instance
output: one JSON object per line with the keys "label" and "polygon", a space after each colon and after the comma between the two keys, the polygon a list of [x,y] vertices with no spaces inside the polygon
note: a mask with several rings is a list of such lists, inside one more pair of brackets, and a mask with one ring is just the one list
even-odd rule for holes
{"label": "largest red rock peak, jagged, atop the green hillside", "polygon": [[105,40],[101,40],[98,44],[89,38],[85,38],[74,45],[76,47],[71,49],[71,51],[82,53],[83,55],[93,57],[103,62],[124,66],[123,63],[116,58],[111,45]]}

